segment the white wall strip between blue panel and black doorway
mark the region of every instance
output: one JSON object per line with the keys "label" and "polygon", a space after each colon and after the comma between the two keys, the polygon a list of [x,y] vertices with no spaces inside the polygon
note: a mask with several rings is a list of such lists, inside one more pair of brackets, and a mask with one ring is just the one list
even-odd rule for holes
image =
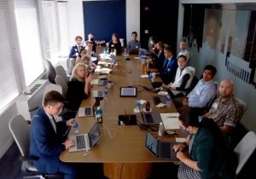
{"label": "white wall strip between blue panel and black doorway", "polygon": [[126,39],[131,40],[131,32],[137,32],[140,39],[140,0],[126,0]]}

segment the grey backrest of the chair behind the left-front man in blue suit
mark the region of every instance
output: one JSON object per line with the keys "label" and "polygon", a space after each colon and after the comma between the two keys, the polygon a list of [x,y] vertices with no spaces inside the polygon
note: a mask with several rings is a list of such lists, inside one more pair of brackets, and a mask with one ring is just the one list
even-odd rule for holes
{"label": "grey backrest of the chair behind the left-front man in blue suit", "polygon": [[26,119],[20,114],[15,115],[9,121],[9,130],[15,138],[15,142],[19,147],[21,156],[28,156],[29,153],[29,125]]}

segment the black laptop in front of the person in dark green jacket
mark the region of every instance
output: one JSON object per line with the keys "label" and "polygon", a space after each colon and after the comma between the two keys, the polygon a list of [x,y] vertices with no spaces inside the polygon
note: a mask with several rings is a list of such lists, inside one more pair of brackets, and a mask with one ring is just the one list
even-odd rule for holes
{"label": "black laptop in front of the person in dark green jacket", "polygon": [[152,133],[147,132],[145,147],[158,159],[178,161],[176,153],[172,149],[175,144],[177,144],[176,141],[157,140],[157,135],[154,136]]}

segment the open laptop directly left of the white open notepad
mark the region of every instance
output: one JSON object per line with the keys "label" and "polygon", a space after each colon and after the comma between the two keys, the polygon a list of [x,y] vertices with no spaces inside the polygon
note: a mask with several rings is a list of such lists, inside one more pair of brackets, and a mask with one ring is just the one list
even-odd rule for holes
{"label": "open laptop directly left of the white open notepad", "polygon": [[158,125],[162,121],[160,113],[144,112],[142,109],[140,109],[140,113],[143,118],[143,124],[145,125]]}

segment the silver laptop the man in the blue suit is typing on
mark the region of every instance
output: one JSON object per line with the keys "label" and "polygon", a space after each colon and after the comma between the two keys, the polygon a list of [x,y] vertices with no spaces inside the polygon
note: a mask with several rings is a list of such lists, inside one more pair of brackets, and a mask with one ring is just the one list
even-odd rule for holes
{"label": "silver laptop the man in the blue suit is typing on", "polygon": [[69,152],[90,150],[90,148],[96,145],[96,142],[99,141],[101,136],[99,125],[95,122],[87,134],[68,136],[69,139],[76,143],[75,146],[69,148]]}

